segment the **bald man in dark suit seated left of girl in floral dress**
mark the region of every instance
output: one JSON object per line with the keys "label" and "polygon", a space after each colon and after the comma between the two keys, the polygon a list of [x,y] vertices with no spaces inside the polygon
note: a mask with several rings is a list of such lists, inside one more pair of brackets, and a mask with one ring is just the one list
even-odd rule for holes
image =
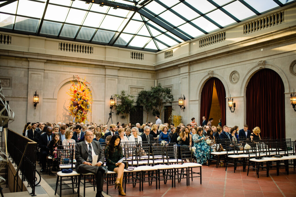
{"label": "bald man in dark suit seated left of girl in floral dress", "polygon": [[45,171],[46,167],[46,156],[49,154],[49,141],[52,140],[52,127],[47,127],[46,128],[46,133],[42,133],[40,135],[39,141],[38,141],[38,146],[40,147],[40,162],[41,162],[41,170],[40,172]]}

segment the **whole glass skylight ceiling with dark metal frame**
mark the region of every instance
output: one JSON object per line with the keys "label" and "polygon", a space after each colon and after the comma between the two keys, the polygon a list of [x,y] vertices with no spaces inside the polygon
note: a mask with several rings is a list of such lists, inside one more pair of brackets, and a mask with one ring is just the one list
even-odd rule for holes
{"label": "whole glass skylight ceiling with dark metal frame", "polygon": [[10,0],[0,1],[0,30],[160,51],[294,2]]}

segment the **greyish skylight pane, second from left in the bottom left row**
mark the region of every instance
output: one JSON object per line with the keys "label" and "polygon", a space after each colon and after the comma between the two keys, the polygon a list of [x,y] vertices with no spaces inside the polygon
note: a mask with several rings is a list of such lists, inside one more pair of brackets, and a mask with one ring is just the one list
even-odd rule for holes
{"label": "greyish skylight pane, second from left in the bottom left row", "polygon": [[22,31],[36,32],[39,20],[26,17],[16,17],[15,29]]}

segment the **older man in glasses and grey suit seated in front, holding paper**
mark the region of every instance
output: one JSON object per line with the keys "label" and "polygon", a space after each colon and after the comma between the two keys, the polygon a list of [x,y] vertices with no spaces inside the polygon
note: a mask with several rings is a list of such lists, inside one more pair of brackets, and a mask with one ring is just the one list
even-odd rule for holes
{"label": "older man in glasses and grey suit seated in front, holding paper", "polygon": [[[95,166],[92,166],[92,158],[98,155]],[[93,141],[93,133],[86,130],[85,141],[77,143],[75,148],[76,166],[79,173],[93,173],[96,175],[96,197],[102,197],[104,173],[107,169],[103,166],[105,154],[98,141]]]}

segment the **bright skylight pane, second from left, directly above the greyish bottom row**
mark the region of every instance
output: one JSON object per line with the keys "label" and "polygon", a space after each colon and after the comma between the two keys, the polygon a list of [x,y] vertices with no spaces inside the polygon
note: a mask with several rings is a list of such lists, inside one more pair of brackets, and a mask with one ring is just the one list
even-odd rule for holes
{"label": "bright skylight pane, second from left, directly above the greyish bottom row", "polygon": [[19,1],[17,14],[41,18],[44,12],[45,3],[22,0]]}

